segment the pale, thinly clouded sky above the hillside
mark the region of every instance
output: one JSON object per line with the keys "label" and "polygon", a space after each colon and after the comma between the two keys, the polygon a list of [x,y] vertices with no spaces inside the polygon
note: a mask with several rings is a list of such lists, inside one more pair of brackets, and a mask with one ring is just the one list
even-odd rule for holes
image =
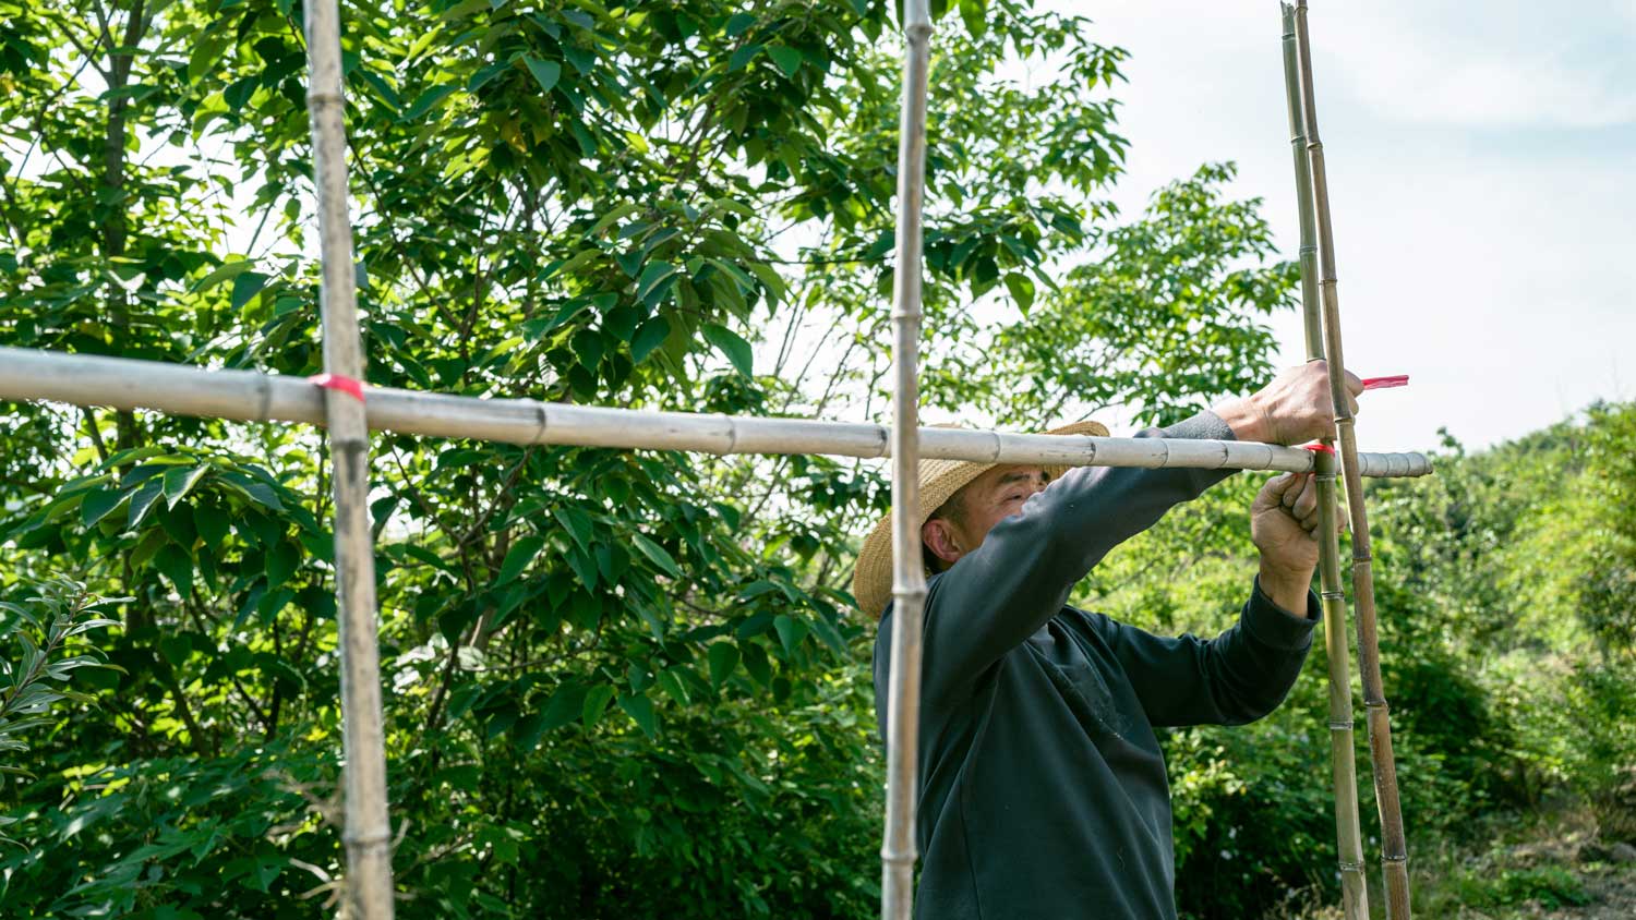
{"label": "pale, thinly clouded sky above the hillside", "polygon": [[[1130,52],[1114,199],[1234,160],[1297,248],[1278,3],[1080,0]],[[1312,5],[1342,332],[1363,449],[1484,448],[1636,399],[1636,0]],[[1301,319],[1274,320],[1301,363]]]}

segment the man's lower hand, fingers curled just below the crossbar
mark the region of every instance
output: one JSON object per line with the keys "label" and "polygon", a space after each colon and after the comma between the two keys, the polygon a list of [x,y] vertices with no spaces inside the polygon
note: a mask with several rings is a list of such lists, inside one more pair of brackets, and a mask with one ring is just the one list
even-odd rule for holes
{"label": "man's lower hand, fingers curled just below the crossbar", "polygon": [[[1345,526],[1337,508],[1337,531]],[[1250,539],[1261,551],[1261,592],[1304,616],[1319,564],[1319,484],[1310,472],[1273,477],[1250,507]]]}

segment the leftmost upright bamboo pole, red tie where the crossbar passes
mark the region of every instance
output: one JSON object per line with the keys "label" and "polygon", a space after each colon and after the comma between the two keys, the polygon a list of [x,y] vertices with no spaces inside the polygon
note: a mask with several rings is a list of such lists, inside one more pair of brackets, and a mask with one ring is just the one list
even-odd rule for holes
{"label": "leftmost upright bamboo pole, red tie where the crossbar passes", "polygon": [[[337,0],[306,2],[311,57],[308,118],[322,258],[324,371],[363,379],[347,209],[347,126],[340,93]],[[391,824],[386,814],[386,744],[375,624],[375,552],[370,544],[370,431],[363,402],[324,391],[335,489],[335,593],[340,631],[342,753],[345,757],[347,886],[344,915],[393,917]]]}

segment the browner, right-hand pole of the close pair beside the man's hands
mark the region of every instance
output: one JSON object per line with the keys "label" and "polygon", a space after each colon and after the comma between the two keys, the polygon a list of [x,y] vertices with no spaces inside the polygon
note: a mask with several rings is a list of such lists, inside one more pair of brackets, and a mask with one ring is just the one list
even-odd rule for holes
{"label": "browner, right-hand pole of the close pair beside the man's hands", "polygon": [[1374,761],[1374,797],[1381,807],[1381,873],[1386,876],[1387,920],[1409,920],[1409,850],[1404,840],[1402,806],[1397,799],[1397,766],[1392,758],[1392,726],[1381,686],[1381,647],[1376,636],[1374,570],[1369,552],[1369,515],[1363,502],[1358,471],[1358,440],[1345,392],[1345,356],[1340,337],[1340,296],[1335,291],[1335,235],[1330,224],[1328,176],[1324,142],[1312,92],[1312,44],[1307,34],[1307,0],[1296,5],[1296,49],[1301,65],[1301,111],[1312,173],[1314,212],[1319,226],[1319,260],[1324,301],[1324,343],[1328,355],[1330,394],[1335,399],[1335,427],[1340,433],[1342,472],[1346,477],[1346,508],[1351,511],[1351,587],[1358,596],[1358,672],[1363,677],[1363,706],[1369,724],[1369,753]]}

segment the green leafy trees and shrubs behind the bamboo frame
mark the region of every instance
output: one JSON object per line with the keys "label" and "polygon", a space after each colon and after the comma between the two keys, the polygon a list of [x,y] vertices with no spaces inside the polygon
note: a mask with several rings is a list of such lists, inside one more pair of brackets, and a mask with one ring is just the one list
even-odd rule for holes
{"label": "green leafy trees and shrubs behind the bamboo frame", "polygon": [[[1260,203],[1224,193],[1232,167],[1117,214],[1126,52],[1021,0],[952,7],[929,413],[1034,428],[1121,402],[1163,422],[1266,377],[1261,320],[1292,270]],[[317,371],[299,5],[0,11],[0,342]],[[342,20],[370,382],[882,417],[887,3],[394,0]],[[1592,794],[1631,763],[1623,721],[1593,744],[1561,724],[1629,693],[1608,663],[1629,655],[1631,418],[1481,458],[1451,443],[1438,477],[1373,490],[1410,828]],[[0,856],[0,909],[326,912],[322,438],[49,405],[0,404],[0,423],[7,598],[61,598],[39,585],[72,570],[121,598],[77,610],[123,626],[98,639],[118,668],[75,670],[88,698],[52,699],[15,752],[36,779],[0,802],[26,846]],[[877,464],[396,435],[375,456],[404,917],[874,913],[872,636],[844,585],[887,503]],[[1237,477],[1122,547],[1081,600],[1220,627],[1252,492]],[[1253,727],[1166,740],[1193,915],[1333,884],[1320,681]]]}

